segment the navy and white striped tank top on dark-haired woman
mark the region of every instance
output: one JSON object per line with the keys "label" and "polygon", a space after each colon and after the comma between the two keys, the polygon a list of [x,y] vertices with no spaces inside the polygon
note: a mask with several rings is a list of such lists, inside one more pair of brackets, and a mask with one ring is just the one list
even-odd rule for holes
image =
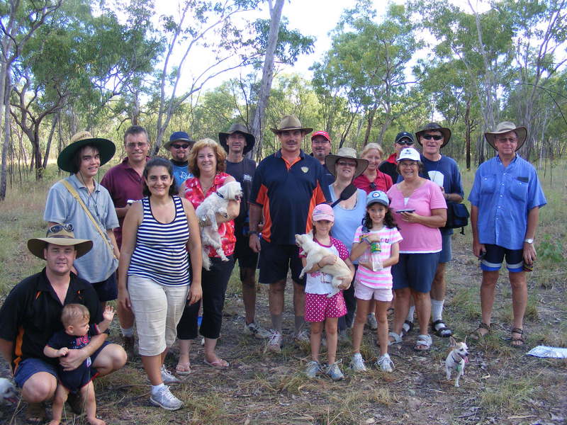
{"label": "navy and white striped tank top on dark-haired woman", "polygon": [[186,243],[189,225],[179,196],[173,196],[175,218],[167,224],[152,214],[150,198],[142,199],[142,223],[137,228],[136,247],[128,276],[150,278],[164,286],[188,285],[189,259]]}

